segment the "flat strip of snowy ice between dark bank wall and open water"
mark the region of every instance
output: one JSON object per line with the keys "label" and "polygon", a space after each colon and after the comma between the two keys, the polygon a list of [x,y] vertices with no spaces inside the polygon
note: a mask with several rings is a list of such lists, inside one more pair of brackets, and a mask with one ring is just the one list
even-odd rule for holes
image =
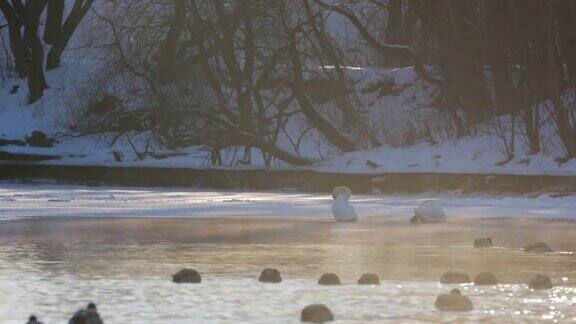
{"label": "flat strip of snowy ice between dark bank wall and open water", "polygon": [[[406,219],[435,199],[448,217],[576,219],[576,197],[354,195],[360,217]],[[332,219],[332,197],[289,191],[233,192],[0,184],[0,219],[22,217],[280,217]]]}

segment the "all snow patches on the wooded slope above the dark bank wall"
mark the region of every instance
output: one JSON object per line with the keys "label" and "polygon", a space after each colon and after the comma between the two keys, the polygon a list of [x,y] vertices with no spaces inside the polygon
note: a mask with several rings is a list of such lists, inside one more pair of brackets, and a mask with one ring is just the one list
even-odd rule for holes
{"label": "all snow patches on the wooded slope above the dark bank wall", "polygon": [[[41,130],[50,136],[69,133],[66,123],[68,113],[77,109],[71,97],[80,91],[83,82],[88,80],[89,67],[80,64],[82,57],[76,62],[68,58],[60,69],[47,73],[51,86],[45,96],[31,106],[26,105],[27,91],[23,80],[11,79],[0,84],[0,138],[24,140],[34,130]],[[279,144],[284,149],[298,152],[304,156],[323,160],[311,167],[292,167],[281,161],[273,161],[272,169],[306,169],[319,172],[340,173],[473,173],[473,174],[518,174],[518,175],[576,175],[576,161],[573,159],[565,164],[558,164],[555,159],[562,156],[562,150],[554,140],[553,129],[548,127],[543,131],[545,150],[528,155],[526,145],[517,139],[515,158],[503,165],[505,154],[502,138],[495,135],[486,125],[484,132],[460,139],[443,135],[440,129],[445,121],[439,120],[437,111],[430,107],[430,94],[433,88],[418,81],[412,68],[400,69],[358,69],[347,70],[350,78],[360,80],[356,87],[358,100],[366,107],[366,122],[379,134],[377,136],[386,143],[375,148],[359,150],[342,154],[331,147],[315,130],[309,130],[302,136],[299,147],[293,147],[294,139],[298,138],[308,125],[302,116],[296,115],[287,123],[286,132],[279,138]],[[367,89],[383,80],[393,81],[392,92],[395,94],[381,95],[379,91]],[[19,85],[20,91],[9,94],[13,85]],[[419,107],[417,113],[413,107]],[[330,103],[320,105],[318,109],[333,115],[335,109]],[[545,108],[542,108],[545,111]],[[332,113],[329,113],[332,112]],[[333,123],[338,123],[337,116],[332,116]],[[505,122],[505,121],[504,121]],[[425,129],[434,134],[434,141],[420,140],[412,143],[410,137],[424,138]],[[144,138],[149,134],[133,136],[132,141],[142,149]],[[119,167],[159,167],[159,168],[214,168],[210,164],[209,152],[200,146],[182,148],[170,151],[154,148],[155,153],[169,153],[172,156],[156,159],[151,156],[140,160],[136,157],[130,143],[120,138],[110,146],[110,136],[91,136],[82,138],[57,137],[60,141],[53,148],[33,148],[20,146],[0,147],[0,151],[10,153],[32,153],[59,155],[62,158],[42,162],[51,165],[83,165],[83,166],[119,166]],[[122,163],[114,160],[113,151],[120,151],[125,159]],[[237,163],[242,150],[223,153],[223,168],[229,169],[262,169],[264,161],[257,150],[253,150],[252,164],[249,166]],[[367,165],[367,160],[377,167]]]}

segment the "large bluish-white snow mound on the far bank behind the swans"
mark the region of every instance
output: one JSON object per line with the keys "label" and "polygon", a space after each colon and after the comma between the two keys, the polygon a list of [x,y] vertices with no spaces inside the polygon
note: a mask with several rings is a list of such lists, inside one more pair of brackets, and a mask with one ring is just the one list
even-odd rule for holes
{"label": "large bluish-white snow mound on the far bank behind the swans", "polygon": [[[317,171],[346,173],[465,173],[517,175],[576,175],[576,161],[558,164],[554,155],[517,154],[504,164],[506,155],[493,135],[448,139],[437,144],[420,142],[408,147],[380,147],[343,154],[317,166]],[[380,166],[366,165],[370,160]]]}

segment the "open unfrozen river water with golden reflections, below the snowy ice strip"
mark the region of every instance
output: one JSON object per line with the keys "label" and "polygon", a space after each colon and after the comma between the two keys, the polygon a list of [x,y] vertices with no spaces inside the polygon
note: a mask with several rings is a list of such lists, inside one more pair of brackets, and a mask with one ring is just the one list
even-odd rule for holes
{"label": "open unfrozen river water with golden reflections, below the snowy ice strip", "polygon": [[[64,323],[95,302],[106,323],[295,323],[301,309],[323,303],[338,323],[551,322],[576,320],[576,259],[571,222],[466,220],[411,227],[379,220],[335,224],[302,219],[30,218],[0,223],[0,322],[36,314]],[[542,230],[544,228],[544,230]],[[516,229],[516,231],[514,230]],[[478,250],[488,233],[499,247]],[[527,254],[523,241],[547,239],[561,251]],[[170,275],[194,268],[200,284]],[[280,284],[257,281],[278,268]],[[449,269],[473,277],[492,271],[497,286],[459,288],[467,313],[434,308]],[[341,286],[316,284],[324,272]],[[359,286],[364,272],[380,286]],[[532,291],[536,273],[556,288]]]}

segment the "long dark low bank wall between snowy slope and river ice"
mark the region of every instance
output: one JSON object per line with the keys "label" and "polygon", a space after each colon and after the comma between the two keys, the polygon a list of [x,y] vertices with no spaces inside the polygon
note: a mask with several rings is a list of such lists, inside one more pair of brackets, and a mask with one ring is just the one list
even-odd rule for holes
{"label": "long dark low bank wall between snowy slope and river ice", "polygon": [[295,189],[329,192],[345,185],[355,193],[450,192],[493,194],[576,192],[575,176],[459,173],[330,173],[308,170],[191,169],[0,164],[0,180],[50,180],[89,186],[203,187],[216,189]]}

